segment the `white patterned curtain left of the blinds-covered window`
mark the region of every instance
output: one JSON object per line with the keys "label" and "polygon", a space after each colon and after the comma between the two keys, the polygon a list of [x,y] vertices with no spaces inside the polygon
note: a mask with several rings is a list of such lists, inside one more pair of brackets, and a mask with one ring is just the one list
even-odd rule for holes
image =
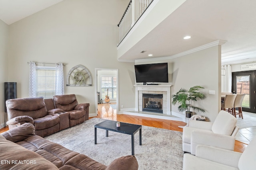
{"label": "white patterned curtain left of the blinds-covered window", "polygon": [[36,63],[29,62],[29,89],[28,96],[30,98],[36,97]]}

